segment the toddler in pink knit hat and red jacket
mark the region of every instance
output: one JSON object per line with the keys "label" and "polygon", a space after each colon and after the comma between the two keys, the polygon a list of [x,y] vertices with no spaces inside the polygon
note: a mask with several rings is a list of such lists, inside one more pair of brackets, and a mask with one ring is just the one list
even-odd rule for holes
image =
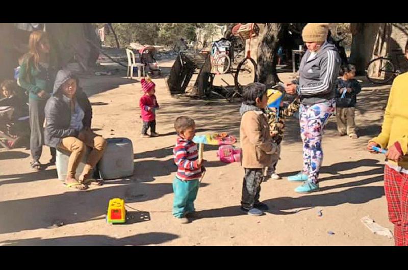
{"label": "toddler in pink knit hat and red jacket", "polygon": [[155,96],[156,85],[149,78],[141,79],[144,95],[140,98],[139,106],[143,120],[141,138],[148,138],[147,130],[150,127],[150,137],[158,137],[156,133],[156,109],[159,109],[159,103]]}

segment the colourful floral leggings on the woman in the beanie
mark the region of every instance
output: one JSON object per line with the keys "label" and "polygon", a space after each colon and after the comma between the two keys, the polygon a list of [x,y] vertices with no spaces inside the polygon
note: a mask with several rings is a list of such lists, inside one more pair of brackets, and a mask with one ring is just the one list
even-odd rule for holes
{"label": "colourful floral leggings on the woman in the beanie", "polygon": [[314,105],[300,105],[300,136],[303,141],[303,174],[309,181],[318,183],[320,166],[323,161],[321,147],[324,127],[336,110],[335,99]]}

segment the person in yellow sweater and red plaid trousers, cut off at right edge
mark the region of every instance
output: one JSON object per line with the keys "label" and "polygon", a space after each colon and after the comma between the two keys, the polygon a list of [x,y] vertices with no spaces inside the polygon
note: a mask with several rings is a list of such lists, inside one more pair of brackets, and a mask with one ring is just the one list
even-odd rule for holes
{"label": "person in yellow sweater and red plaid trousers, cut off at right edge", "polygon": [[[408,60],[408,41],[405,45]],[[370,140],[372,147],[388,149],[384,171],[384,190],[388,217],[394,224],[395,246],[408,246],[408,72],[397,76],[392,84],[381,133]]]}

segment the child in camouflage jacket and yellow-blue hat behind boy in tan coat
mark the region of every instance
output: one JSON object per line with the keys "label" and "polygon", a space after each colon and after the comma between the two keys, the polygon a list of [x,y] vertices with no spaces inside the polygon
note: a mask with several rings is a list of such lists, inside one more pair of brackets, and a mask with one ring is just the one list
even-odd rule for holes
{"label": "child in camouflage jacket and yellow-blue hat behind boy in tan coat", "polygon": [[275,170],[281,155],[281,142],[284,136],[285,121],[299,110],[300,101],[296,97],[289,105],[284,104],[285,92],[279,90],[268,90],[268,106],[266,114],[269,119],[269,128],[273,142],[277,145],[276,153],[272,155],[272,162],[266,170],[265,181],[268,179],[281,179]]}

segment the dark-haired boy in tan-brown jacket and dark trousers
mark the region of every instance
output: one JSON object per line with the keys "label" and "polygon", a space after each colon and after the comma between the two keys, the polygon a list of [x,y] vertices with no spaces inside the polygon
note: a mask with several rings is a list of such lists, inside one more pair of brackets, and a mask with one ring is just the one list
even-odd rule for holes
{"label": "dark-haired boy in tan-brown jacket and dark trousers", "polygon": [[268,206],[259,201],[264,168],[272,161],[277,146],[272,142],[264,109],[267,91],[264,84],[252,83],[244,88],[240,108],[242,116],[240,142],[245,176],[242,185],[241,210],[249,215],[262,215]]}

